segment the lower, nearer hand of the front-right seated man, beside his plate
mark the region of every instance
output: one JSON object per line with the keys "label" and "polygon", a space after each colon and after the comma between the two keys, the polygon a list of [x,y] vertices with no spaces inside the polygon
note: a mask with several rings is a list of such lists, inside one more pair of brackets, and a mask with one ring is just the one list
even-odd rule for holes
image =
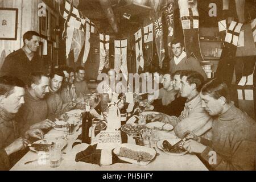
{"label": "lower, nearer hand of the front-right seated man, beside his plate", "polygon": [[205,150],[206,146],[196,140],[189,139],[183,143],[183,148],[191,154],[201,154]]}

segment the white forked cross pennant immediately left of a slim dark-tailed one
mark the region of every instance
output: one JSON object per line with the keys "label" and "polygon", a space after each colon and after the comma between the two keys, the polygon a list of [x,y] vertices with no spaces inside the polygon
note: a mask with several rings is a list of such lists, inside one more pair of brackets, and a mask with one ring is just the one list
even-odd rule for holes
{"label": "white forked cross pennant immediately left of a slim dark-tailed one", "polygon": [[134,34],[134,36],[135,36],[136,67],[137,67],[137,73],[138,73],[139,67],[142,68],[142,71],[144,70],[141,28]]}

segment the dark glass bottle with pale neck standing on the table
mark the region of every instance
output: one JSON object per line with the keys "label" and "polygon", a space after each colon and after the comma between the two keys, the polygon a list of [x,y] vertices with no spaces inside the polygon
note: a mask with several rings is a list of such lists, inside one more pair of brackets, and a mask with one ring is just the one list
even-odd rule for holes
{"label": "dark glass bottle with pale neck standing on the table", "polygon": [[90,105],[86,104],[84,118],[82,119],[82,143],[90,144],[89,129],[91,126]]}

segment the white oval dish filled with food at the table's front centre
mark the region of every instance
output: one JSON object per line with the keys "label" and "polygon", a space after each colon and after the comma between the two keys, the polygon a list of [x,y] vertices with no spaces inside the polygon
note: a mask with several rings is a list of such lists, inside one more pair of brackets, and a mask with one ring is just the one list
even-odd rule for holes
{"label": "white oval dish filled with food at the table's front centre", "polygon": [[129,143],[120,144],[113,152],[119,159],[141,166],[146,166],[156,155],[152,148]]}

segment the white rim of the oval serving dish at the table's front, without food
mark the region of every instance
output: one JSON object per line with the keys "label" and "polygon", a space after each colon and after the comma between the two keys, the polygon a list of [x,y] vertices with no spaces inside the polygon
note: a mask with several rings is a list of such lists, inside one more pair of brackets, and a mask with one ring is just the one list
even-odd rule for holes
{"label": "white rim of the oval serving dish at the table's front, without food", "polygon": [[141,165],[141,166],[146,166],[148,163],[151,162],[152,159],[148,160],[148,161],[141,161],[141,162],[138,162],[137,160],[135,159],[130,159],[130,158],[126,158],[126,157],[123,157],[123,156],[119,156],[119,151],[120,151],[120,148],[121,147],[126,147],[126,148],[129,148],[130,150],[133,150],[133,151],[143,151],[143,152],[148,152],[150,155],[152,155],[152,159],[155,158],[155,154],[156,154],[156,151],[153,150],[152,148],[148,148],[148,147],[143,147],[143,146],[138,146],[136,144],[129,144],[129,143],[122,143],[120,144],[119,147],[116,147],[114,148],[114,154],[117,155],[117,157],[125,162],[129,162],[129,163],[133,163],[133,164],[138,164],[138,165]]}

